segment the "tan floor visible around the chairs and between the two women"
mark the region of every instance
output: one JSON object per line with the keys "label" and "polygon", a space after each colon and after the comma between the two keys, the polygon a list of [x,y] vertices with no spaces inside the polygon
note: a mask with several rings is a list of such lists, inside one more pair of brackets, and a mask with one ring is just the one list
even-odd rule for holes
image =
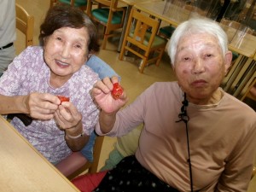
{"label": "tan floor visible around the chairs and between the two women", "polygon": [[[16,3],[20,3],[20,5],[22,5],[29,14],[34,15],[34,44],[38,45],[39,26],[42,23],[42,20],[44,20],[44,15],[47,9],[49,9],[49,0],[16,0]],[[18,32],[17,41],[15,42],[17,54],[19,54],[22,49],[25,49],[23,41],[23,35]],[[145,67],[144,73],[142,74],[138,72],[137,67],[139,64],[137,61],[131,63],[129,61],[132,61],[132,59],[129,57],[126,58],[127,61],[119,61],[119,53],[116,51],[117,44],[118,41],[108,43],[107,49],[100,51],[99,57],[108,62],[108,64],[113,67],[117,73],[119,73],[121,76],[121,84],[125,87],[130,98],[129,102],[134,101],[134,99],[142,93],[143,90],[154,82],[175,80],[169,57],[166,54],[163,56],[160,67],[150,65]],[[115,142],[116,138],[105,137],[99,168],[104,165],[104,162],[108,158],[109,152],[113,149],[113,144]],[[256,177],[253,178],[247,192],[256,192]]]}

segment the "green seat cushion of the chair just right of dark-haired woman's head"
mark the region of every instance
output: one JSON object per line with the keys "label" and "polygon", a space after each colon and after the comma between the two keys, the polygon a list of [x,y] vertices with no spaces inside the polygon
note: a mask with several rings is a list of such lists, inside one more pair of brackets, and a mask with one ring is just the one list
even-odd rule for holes
{"label": "green seat cushion of the chair just right of dark-haired woman's head", "polygon": [[[102,8],[102,9],[93,9],[91,14],[97,19],[101,20],[103,23],[108,23],[108,15],[109,9]],[[113,18],[111,20],[112,24],[120,24],[122,22],[123,11],[118,11],[113,13]]]}

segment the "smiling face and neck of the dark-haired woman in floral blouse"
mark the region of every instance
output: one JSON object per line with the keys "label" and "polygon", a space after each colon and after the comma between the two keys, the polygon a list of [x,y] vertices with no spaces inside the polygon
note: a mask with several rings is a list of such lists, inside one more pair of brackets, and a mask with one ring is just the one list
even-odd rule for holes
{"label": "smiling face and neck of the dark-haired woman in floral blouse", "polygon": [[44,61],[50,68],[50,84],[59,87],[87,61],[89,34],[85,27],[62,27],[44,39]]}

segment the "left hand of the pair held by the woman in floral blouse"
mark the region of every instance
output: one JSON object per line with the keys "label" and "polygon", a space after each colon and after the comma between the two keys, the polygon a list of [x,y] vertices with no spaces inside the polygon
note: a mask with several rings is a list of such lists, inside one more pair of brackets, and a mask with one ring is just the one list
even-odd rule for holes
{"label": "left hand of the pair held by the woman in floral blouse", "polygon": [[23,99],[29,115],[34,119],[53,119],[61,101],[49,93],[31,93]]}

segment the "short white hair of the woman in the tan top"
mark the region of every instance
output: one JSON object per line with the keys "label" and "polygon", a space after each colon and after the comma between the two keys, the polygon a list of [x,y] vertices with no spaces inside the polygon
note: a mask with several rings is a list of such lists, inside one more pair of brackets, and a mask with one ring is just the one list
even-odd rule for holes
{"label": "short white hair of the woman in the tan top", "polygon": [[228,51],[228,38],[221,26],[216,21],[207,18],[193,18],[181,23],[172,34],[167,50],[174,67],[177,54],[177,44],[180,38],[189,34],[209,33],[218,39],[218,44],[223,55]]}

